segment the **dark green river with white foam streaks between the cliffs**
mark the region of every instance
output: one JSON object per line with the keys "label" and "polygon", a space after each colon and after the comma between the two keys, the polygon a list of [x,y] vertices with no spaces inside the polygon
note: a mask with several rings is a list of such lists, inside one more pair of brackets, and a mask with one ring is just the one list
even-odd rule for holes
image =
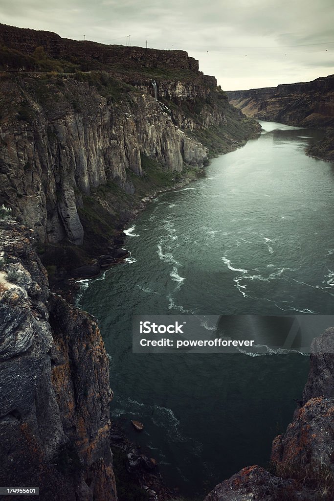
{"label": "dark green river with white foam streaks between the cliffs", "polygon": [[132,316],[334,314],[334,164],[304,154],[321,132],[260,123],[258,139],[158,195],[127,230],[131,258],[78,298],[110,356],[113,419],[188,495],[268,462],[309,358],[133,354]]}

